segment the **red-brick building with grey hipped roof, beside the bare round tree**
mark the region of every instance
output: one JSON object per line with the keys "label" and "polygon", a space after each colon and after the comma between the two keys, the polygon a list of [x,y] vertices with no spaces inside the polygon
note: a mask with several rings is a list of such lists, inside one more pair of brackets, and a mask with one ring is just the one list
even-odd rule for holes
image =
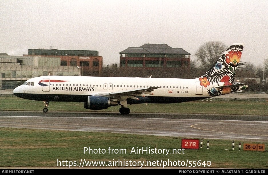
{"label": "red-brick building with grey hipped roof, beside the bare round tree", "polygon": [[129,47],[121,52],[121,69],[170,69],[190,67],[190,53],[182,48],[172,48],[167,44],[144,44]]}

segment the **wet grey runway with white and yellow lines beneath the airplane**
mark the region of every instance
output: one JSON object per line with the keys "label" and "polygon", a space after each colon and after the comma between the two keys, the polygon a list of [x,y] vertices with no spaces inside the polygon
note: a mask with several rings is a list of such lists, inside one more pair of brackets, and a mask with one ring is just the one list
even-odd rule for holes
{"label": "wet grey runway with white and yellow lines beneath the airplane", "polygon": [[0,111],[0,127],[268,142],[268,116]]}

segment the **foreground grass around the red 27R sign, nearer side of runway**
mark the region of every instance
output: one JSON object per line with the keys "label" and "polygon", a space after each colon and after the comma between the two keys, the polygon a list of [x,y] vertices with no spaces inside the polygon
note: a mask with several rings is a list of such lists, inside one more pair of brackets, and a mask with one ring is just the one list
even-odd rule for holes
{"label": "foreground grass around the red 27R sign, nearer side of runway", "polygon": [[[204,145],[199,150],[184,150],[184,154],[173,153],[173,149],[181,148],[180,137],[149,136],[135,134],[114,134],[98,132],[68,132],[33,129],[0,128],[0,166],[52,166],[57,167],[57,160],[62,161],[196,161],[211,162],[210,166],[199,165],[194,168],[268,168],[267,151],[245,151],[243,143],[241,151],[235,141],[209,140],[209,150]],[[206,143],[207,140],[204,140]],[[260,143],[259,143],[260,144]],[[109,154],[108,148],[125,150],[117,154]],[[267,148],[267,143],[265,143]],[[84,154],[84,147],[97,149],[98,153]],[[133,148],[150,147],[151,149],[170,149],[165,154],[131,154]],[[100,148],[100,151],[99,151]],[[229,149],[226,151],[225,149]],[[100,154],[100,152],[105,153]],[[110,152],[111,153],[111,152]],[[210,162],[209,162],[210,161]],[[160,164],[160,163],[159,163]],[[63,165],[63,164],[62,164]],[[65,164],[66,165],[66,164]],[[163,166],[163,165],[162,165]],[[188,164],[189,166],[189,164]],[[169,166],[172,167],[172,166]],[[174,166],[173,166],[174,167]],[[177,166],[178,167],[178,166]],[[193,167],[192,167],[193,168]]]}

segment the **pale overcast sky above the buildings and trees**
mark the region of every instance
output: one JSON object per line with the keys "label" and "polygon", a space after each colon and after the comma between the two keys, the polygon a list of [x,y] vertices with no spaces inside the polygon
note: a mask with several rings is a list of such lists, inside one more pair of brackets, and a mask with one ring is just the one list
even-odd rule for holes
{"label": "pale overcast sky above the buildings and trees", "polygon": [[97,50],[103,65],[144,43],[191,53],[208,41],[244,43],[242,62],[268,58],[268,1],[0,0],[0,52]]}

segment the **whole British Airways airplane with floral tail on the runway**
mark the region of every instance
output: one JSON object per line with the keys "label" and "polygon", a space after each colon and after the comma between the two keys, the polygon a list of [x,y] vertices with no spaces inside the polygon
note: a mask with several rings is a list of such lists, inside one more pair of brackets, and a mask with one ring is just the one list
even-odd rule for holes
{"label": "whole British Airways airplane with floral tail on the runway", "polygon": [[17,97],[49,102],[84,102],[84,108],[103,110],[120,105],[119,112],[129,114],[128,104],[169,104],[201,100],[245,90],[236,82],[243,44],[234,43],[201,77],[195,79],[152,77],[40,76],[16,87]]}

